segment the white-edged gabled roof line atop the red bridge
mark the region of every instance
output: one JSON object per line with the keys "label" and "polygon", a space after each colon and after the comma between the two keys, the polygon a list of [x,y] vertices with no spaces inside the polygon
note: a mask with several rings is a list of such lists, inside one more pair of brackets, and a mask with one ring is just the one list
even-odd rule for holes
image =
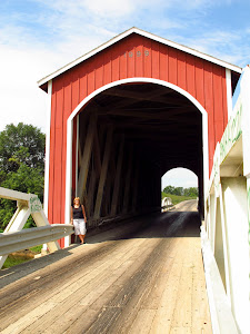
{"label": "white-edged gabled roof line atop the red bridge", "polygon": [[184,52],[190,53],[192,56],[196,56],[196,57],[199,57],[201,59],[208,60],[210,62],[217,63],[217,65],[219,65],[221,67],[224,67],[227,69],[230,69],[230,70],[232,70],[234,72],[238,72],[238,73],[242,72],[242,68],[241,67],[238,67],[236,65],[229,63],[227,61],[220,60],[220,59],[214,58],[212,56],[202,53],[202,52],[197,51],[194,49],[188,48],[186,46],[176,43],[176,42],[173,42],[171,40],[158,37],[158,36],[156,36],[153,33],[150,33],[150,32],[147,32],[144,30],[141,30],[141,29],[138,29],[138,28],[133,27],[133,28],[130,28],[129,30],[126,30],[124,32],[118,35],[117,37],[110,39],[108,42],[101,45],[100,47],[93,49],[92,51],[90,51],[90,52],[88,52],[88,53],[86,53],[86,55],[77,58],[76,60],[69,62],[68,65],[61,67],[60,69],[58,69],[57,71],[52,72],[51,75],[42,78],[41,80],[38,81],[38,85],[42,86],[42,85],[47,84],[49,80],[51,80],[51,79],[60,76],[61,73],[66,72],[67,70],[71,69],[72,67],[77,66],[78,63],[87,60],[88,58],[94,56],[96,53],[98,53],[98,52],[104,50],[106,48],[114,45],[116,42],[120,41],[121,39],[130,36],[131,33],[138,33],[140,36],[147,37],[147,38],[149,38],[151,40],[158,41],[158,42],[163,43],[166,46],[172,47],[174,49],[184,51]]}

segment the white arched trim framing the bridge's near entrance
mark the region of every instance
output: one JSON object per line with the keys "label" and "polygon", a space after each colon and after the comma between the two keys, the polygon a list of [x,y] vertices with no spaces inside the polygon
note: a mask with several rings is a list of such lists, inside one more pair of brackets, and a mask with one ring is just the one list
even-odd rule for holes
{"label": "white arched trim framing the bridge's near entrance", "polygon": [[[124,84],[132,84],[132,82],[148,82],[148,84],[156,84],[160,86],[164,86],[167,88],[171,88],[182,96],[187,97],[201,112],[202,115],[202,147],[203,147],[203,194],[206,194],[207,186],[209,184],[209,149],[208,149],[208,114],[206,109],[194,99],[189,92],[181,89],[180,87],[163,81],[159,79],[151,79],[151,78],[129,78],[118,80],[106,86],[100,87],[99,89],[94,90],[90,94],[87,98],[84,98],[77,108],[72,111],[67,120],[67,167],[66,167],[66,210],[64,210],[64,222],[69,224],[70,219],[70,206],[71,206],[71,186],[72,186],[72,137],[73,137],[73,118],[78,115],[78,112],[83,108],[86,104],[88,104],[92,98],[94,98],[100,92]],[[204,197],[206,198],[206,197]]]}

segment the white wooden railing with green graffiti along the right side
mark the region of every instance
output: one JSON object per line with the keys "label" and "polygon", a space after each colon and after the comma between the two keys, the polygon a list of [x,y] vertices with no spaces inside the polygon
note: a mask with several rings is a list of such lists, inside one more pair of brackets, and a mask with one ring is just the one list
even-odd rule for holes
{"label": "white wooden railing with green graffiti along the right side", "polygon": [[[213,156],[202,254],[213,333],[250,333],[250,66]],[[233,324],[234,321],[234,324]]]}

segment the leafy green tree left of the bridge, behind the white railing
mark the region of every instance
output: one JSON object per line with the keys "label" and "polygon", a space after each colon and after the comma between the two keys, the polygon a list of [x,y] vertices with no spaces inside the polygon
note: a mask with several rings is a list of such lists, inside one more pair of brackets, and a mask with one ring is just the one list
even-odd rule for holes
{"label": "leafy green tree left of the bridge, behind the white railing", "polygon": [[[36,194],[43,203],[46,135],[32,125],[10,124],[0,132],[0,187]],[[0,232],[17,203],[0,198]],[[30,217],[26,227],[34,226]]]}

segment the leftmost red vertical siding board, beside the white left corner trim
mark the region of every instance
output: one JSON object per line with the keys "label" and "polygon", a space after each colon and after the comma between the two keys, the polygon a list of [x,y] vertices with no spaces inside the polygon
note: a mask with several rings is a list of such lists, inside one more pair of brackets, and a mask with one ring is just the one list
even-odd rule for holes
{"label": "leftmost red vertical siding board, beside the white left corner trim", "polygon": [[[53,89],[53,85],[52,85]],[[50,125],[50,173],[49,173],[49,205],[48,218],[50,224],[53,223],[53,191],[54,191],[54,149],[56,149],[56,108],[57,92],[52,92],[51,97],[51,125]]]}

